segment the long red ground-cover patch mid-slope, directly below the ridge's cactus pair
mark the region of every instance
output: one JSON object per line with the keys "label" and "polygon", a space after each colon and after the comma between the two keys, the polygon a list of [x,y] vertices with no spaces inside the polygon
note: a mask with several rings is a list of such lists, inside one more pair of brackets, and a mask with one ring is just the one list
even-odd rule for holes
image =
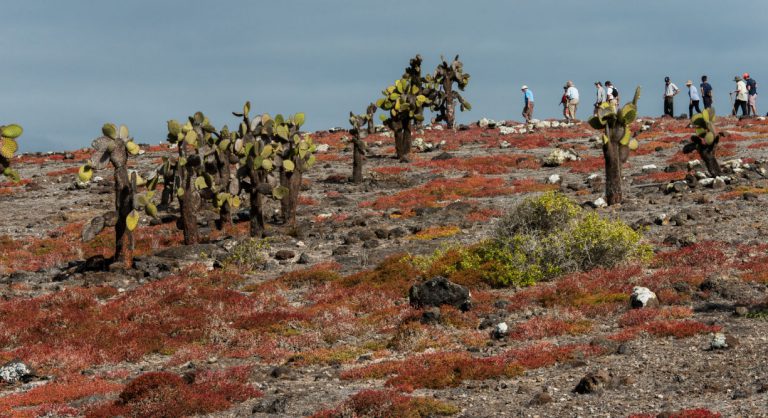
{"label": "long red ground-cover patch mid-slope, directly below the ridge's cactus pair", "polygon": [[483,176],[439,178],[394,195],[381,196],[374,201],[362,202],[360,207],[378,210],[439,207],[447,204],[447,201],[461,200],[467,197],[492,197],[512,192],[513,188],[500,178]]}

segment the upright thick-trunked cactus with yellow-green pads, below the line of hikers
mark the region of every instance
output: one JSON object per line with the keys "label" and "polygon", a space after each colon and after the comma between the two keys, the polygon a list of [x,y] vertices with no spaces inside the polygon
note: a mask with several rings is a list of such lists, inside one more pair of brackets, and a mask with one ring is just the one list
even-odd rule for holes
{"label": "upright thick-trunked cactus with yellow-green pads, below the line of hikers", "polygon": [[616,109],[610,103],[603,103],[597,115],[589,119],[589,125],[603,130],[603,156],[605,157],[605,200],[609,205],[621,203],[621,164],[629,158],[629,152],[637,149],[637,139],[632,137],[629,126],[637,118],[637,101],[640,87],[635,89],[631,103]]}

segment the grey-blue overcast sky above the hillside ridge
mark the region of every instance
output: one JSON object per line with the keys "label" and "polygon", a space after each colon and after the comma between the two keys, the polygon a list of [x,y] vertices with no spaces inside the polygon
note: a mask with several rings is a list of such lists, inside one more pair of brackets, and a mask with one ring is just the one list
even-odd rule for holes
{"label": "grey-blue overcast sky above the hillside ridge", "polygon": [[708,74],[722,113],[735,74],[768,77],[767,12],[765,0],[4,0],[0,123],[24,126],[22,151],[87,146],[108,121],[158,143],[166,120],[197,110],[232,126],[245,100],[305,112],[309,130],[346,127],[416,53],[430,72],[461,55],[473,105],[461,122],[520,120],[522,84],[535,117],[557,117],[568,79],[579,117],[609,79],[627,99],[642,85],[640,114],[658,115],[665,75],[684,88]]}

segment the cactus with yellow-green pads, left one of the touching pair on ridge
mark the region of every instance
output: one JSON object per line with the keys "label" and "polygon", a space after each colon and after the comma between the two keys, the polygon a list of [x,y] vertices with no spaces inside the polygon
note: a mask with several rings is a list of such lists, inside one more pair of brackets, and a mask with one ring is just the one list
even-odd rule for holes
{"label": "cactus with yellow-green pads, left one of the touching pair on ridge", "polygon": [[389,115],[381,115],[381,120],[395,135],[395,151],[401,162],[408,162],[414,123],[424,121],[424,108],[431,104],[429,95],[423,92],[421,62],[421,55],[412,58],[402,78],[384,89],[384,97],[376,102],[377,107],[389,111]]}

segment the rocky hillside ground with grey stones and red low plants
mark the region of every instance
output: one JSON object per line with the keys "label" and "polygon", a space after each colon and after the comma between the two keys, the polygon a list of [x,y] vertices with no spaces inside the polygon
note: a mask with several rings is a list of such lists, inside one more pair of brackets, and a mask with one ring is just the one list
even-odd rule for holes
{"label": "rocky hillside ground with grey stones and red low plants", "polygon": [[[768,416],[768,122],[719,120],[728,136],[718,151],[726,174],[717,179],[695,154],[682,154],[687,121],[637,122],[640,149],[624,166],[624,203],[613,207],[600,202],[602,153],[586,124],[481,122],[420,132],[409,164],[391,157],[385,133],[370,136],[360,185],[348,182],[348,134],[315,133],[327,147],[306,175],[298,234],[272,222],[266,242],[238,246],[246,223],[217,231],[206,212],[208,242],[184,247],[171,208],[159,220],[142,219],[133,269],[98,258],[111,255],[109,228],[80,240],[84,224],[113,207],[108,170],[78,185],[87,150],[18,157],[23,182],[0,184],[0,364],[18,360],[32,372],[26,382],[0,383],[0,416],[98,415],[143,373],[208,376],[238,367],[248,370],[238,384],[260,393],[228,398],[212,415],[349,412],[349,399],[371,389],[394,390],[376,392],[385,399],[439,400],[456,416]],[[141,173],[171,152],[142,148]],[[470,286],[466,313],[409,307],[410,285],[430,277],[393,255],[479,242],[522,199],[545,190],[642,230],[655,259],[525,289]],[[636,285],[661,302],[640,319],[628,302]],[[577,304],[573,295],[593,302]],[[501,322],[510,332],[493,338]],[[81,333],[79,324],[87,324]],[[160,342],[140,338],[150,328]],[[113,338],[109,344],[88,336],[107,331],[115,333],[102,338]],[[713,346],[715,333],[728,347]],[[444,353],[467,355],[468,363]],[[473,375],[478,359],[498,370]],[[360,371],[382,364],[394,371]],[[445,372],[430,364],[463,371],[448,384],[403,384],[406,375]],[[510,364],[524,370],[508,371]],[[577,385],[588,393],[574,392]]]}

